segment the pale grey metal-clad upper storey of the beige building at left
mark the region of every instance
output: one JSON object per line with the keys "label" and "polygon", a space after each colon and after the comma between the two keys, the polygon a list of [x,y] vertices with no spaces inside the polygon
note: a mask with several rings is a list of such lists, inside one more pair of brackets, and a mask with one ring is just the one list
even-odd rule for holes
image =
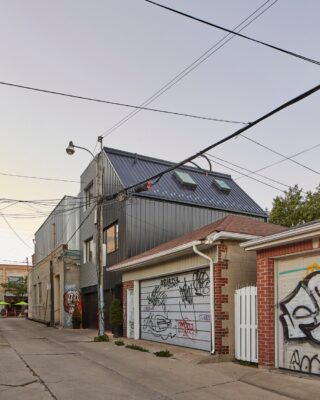
{"label": "pale grey metal-clad upper storey of the beige building at left", "polygon": [[[80,200],[78,197],[65,196],[55,207],[49,217],[35,233],[35,259],[36,263],[47,257],[61,244],[66,244],[79,226]],[[53,226],[55,225],[55,241],[53,239]],[[77,232],[68,243],[71,250],[80,249],[80,233]]]}

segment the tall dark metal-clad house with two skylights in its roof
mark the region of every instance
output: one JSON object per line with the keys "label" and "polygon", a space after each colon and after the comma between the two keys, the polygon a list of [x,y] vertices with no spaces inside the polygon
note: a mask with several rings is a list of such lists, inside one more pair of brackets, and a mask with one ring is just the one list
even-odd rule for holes
{"label": "tall dark metal-clad house with two skylights in its roof", "polygon": [[[117,193],[174,165],[172,162],[103,149],[103,194]],[[81,267],[84,326],[97,326],[97,269],[95,265],[96,162],[81,175],[80,211]],[[139,187],[128,195],[106,201],[103,207],[106,273],[105,310],[113,297],[121,298],[121,271],[109,267],[143,253],[180,235],[230,214],[242,214],[265,221],[267,215],[230,175],[190,166],[165,174],[151,188]],[[144,190],[145,189],[145,190]],[[108,315],[106,328],[110,329]]]}

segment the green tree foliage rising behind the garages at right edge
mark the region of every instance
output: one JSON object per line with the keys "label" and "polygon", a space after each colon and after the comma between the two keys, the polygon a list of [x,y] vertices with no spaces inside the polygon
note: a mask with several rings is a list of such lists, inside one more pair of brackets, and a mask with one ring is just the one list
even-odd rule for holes
{"label": "green tree foliage rising behind the garages at right edge", "polygon": [[292,227],[320,218],[320,185],[314,192],[302,193],[295,185],[273,200],[269,222]]}

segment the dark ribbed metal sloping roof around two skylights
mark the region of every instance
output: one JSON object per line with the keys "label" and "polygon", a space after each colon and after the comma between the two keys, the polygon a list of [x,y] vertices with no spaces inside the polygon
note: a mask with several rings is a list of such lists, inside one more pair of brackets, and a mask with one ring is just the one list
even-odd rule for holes
{"label": "dark ribbed metal sloping roof around two skylights", "polygon": [[[173,162],[122,150],[105,147],[104,151],[125,187],[134,185],[174,165]],[[266,212],[232,180],[230,175],[189,166],[180,167],[178,170],[187,172],[197,183],[197,187],[193,189],[183,186],[174,177],[172,171],[165,174],[150,191],[139,193],[139,196],[267,217]],[[214,178],[223,179],[230,186],[230,192],[219,190],[213,182]]]}

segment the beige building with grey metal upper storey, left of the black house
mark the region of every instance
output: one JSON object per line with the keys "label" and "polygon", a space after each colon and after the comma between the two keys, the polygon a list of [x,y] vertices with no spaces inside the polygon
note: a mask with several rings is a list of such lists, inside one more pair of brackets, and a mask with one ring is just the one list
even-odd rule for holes
{"label": "beige building with grey metal upper storey, left of the black house", "polygon": [[64,196],[35,233],[34,266],[29,273],[29,318],[72,327],[79,290],[79,204]]}

